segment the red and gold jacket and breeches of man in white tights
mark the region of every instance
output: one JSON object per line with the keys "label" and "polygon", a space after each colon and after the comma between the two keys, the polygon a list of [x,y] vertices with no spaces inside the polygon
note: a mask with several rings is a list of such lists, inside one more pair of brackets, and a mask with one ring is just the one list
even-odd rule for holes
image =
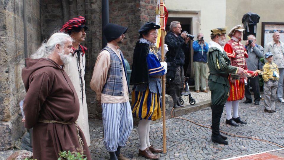
{"label": "red and gold jacket and breeches of man in white tights", "polygon": [[[227,56],[231,60],[231,65],[236,67],[241,67],[245,70],[248,69],[246,64],[246,58],[248,58],[248,54],[246,52],[245,47],[241,44],[241,39],[235,41],[230,39],[225,44],[224,50]],[[234,100],[242,100],[245,93],[245,83],[244,78],[241,77],[240,80],[236,80],[235,83],[231,82],[231,76],[228,77],[230,83],[230,96],[228,97],[227,101],[234,101]]]}

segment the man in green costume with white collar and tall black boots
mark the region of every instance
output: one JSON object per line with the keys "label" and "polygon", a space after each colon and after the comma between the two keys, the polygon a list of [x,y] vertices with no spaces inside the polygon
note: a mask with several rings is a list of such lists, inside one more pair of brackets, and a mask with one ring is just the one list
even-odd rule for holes
{"label": "man in green costume with white collar and tall black boots", "polygon": [[228,81],[229,73],[243,75],[243,68],[231,66],[230,59],[223,49],[226,39],[226,29],[216,28],[211,30],[211,39],[207,60],[209,67],[208,86],[211,91],[212,109],[212,142],[225,144],[227,137],[220,134],[220,119],[223,113],[225,102],[230,94]]}

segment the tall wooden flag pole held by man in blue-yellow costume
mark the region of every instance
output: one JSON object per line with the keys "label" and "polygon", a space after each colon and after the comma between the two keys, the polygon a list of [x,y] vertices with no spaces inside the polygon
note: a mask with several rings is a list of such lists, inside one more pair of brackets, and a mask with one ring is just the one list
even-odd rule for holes
{"label": "tall wooden flag pole held by man in blue-yellow costume", "polygon": [[[161,22],[161,54],[162,62],[164,62],[164,34],[165,34],[165,19],[164,19],[164,0],[160,2],[160,22]],[[166,153],[166,100],[165,100],[165,75],[162,76],[162,105],[163,105],[163,151]]]}

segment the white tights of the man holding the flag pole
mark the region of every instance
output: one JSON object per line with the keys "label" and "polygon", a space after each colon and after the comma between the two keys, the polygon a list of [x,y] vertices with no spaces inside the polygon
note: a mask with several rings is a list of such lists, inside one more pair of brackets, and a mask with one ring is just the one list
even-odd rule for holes
{"label": "white tights of the man holding the flag pole", "polygon": [[141,119],[138,123],[138,134],[141,151],[144,151],[146,148],[151,146],[149,141],[150,125],[151,121],[146,119]]}

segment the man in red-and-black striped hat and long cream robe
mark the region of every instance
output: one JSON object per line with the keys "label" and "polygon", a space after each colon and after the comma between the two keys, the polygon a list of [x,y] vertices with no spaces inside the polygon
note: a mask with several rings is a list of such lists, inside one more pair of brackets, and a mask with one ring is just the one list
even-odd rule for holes
{"label": "man in red-and-black striped hat and long cream robe", "polygon": [[88,29],[88,27],[85,26],[85,22],[86,20],[82,16],[72,18],[62,26],[60,31],[70,34],[70,36],[74,40],[72,42],[72,61],[68,64],[65,64],[63,66],[63,69],[71,79],[72,84],[75,87],[76,93],[78,95],[80,102],[80,112],[77,123],[85,135],[87,145],[90,146],[91,142],[88,122],[88,108],[85,94],[86,57],[84,55],[87,48],[80,45],[80,43],[85,41],[85,31]]}

